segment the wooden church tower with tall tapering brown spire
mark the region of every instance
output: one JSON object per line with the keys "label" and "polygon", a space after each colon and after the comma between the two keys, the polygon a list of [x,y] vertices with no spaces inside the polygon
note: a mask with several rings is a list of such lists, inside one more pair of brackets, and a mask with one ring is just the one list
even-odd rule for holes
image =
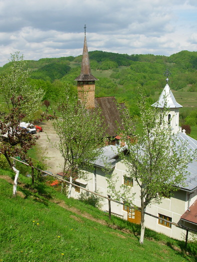
{"label": "wooden church tower with tall tapering brown spire", "polygon": [[77,81],[78,98],[85,103],[86,108],[94,108],[95,80],[98,79],[91,74],[86,36],[84,37],[80,75],[74,80]]}

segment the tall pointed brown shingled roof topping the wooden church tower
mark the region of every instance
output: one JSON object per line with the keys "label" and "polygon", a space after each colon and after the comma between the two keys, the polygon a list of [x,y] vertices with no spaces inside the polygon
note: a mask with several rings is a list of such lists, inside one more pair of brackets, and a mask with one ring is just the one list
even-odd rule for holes
{"label": "tall pointed brown shingled roof topping the wooden church tower", "polygon": [[86,36],[84,37],[83,44],[83,56],[81,62],[81,71],[80,75],[74,79],[75,81],[95,81],[98,80],[91,74],[91,69],[89,65],[89,55],[87,50]]}

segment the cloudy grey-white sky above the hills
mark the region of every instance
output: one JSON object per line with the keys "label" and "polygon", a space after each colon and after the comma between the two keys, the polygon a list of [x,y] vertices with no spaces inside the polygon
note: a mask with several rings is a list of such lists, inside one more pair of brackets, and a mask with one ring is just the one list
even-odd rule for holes
{"label": "cloudy grey-white sky above the hills", "polygon": [[88,51],[197,51],[197,0],[0,0],[0,66]]}

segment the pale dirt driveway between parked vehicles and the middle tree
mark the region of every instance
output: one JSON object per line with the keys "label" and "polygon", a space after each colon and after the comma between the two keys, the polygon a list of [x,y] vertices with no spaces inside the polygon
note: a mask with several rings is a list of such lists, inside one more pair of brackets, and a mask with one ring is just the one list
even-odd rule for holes
{"label": "pale dirt driveway between parked vehicles and the middle tree", "polygon": [[48,141],[47,136],[52,143],[58,142],[58,137],[52,126],[52,120],[40,123],[39,126],[43,128],[43,132],[39,132],[40,138],[36,144],[44,152],[44,155],[49,158],[46,160],[47,171],[55,175],[63,170],[63,158],[59,151]]}

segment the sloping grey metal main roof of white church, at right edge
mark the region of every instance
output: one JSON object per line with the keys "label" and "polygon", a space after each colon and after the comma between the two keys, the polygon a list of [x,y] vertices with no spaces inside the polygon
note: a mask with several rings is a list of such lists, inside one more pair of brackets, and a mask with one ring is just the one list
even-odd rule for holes
{"label": "sloping grey metal main roof of white church, at right edge", "polygon": [[[185,133],[178,133],[177,138],[177,145],[180,145],[185,141],[188,142],[186,146],[188,154],[192,154],[192,152],[194,152],[194,150],[197,149],[197,141],[187,136]],[[188,173],[184,182],[185,185],[179,186],[179,188],[192,191],[197,187],[197,159],[193,160],[191,163],[188,164],[186,171]]]}

